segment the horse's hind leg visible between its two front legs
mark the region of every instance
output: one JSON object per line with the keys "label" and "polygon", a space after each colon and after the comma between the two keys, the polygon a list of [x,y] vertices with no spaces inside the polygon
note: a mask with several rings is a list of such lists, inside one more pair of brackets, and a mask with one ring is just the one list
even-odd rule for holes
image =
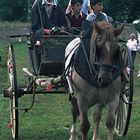
{"label": "horse's hind leg visible between its two front legs", "polygon": [[93,135],[92,140],[100,140],[99,123],[101,120],[101,116],[102,116],[102,106],[97,104],[96,110],[94,113],[94,118],[93,118],[95,127],[94,127],[94,135]]}

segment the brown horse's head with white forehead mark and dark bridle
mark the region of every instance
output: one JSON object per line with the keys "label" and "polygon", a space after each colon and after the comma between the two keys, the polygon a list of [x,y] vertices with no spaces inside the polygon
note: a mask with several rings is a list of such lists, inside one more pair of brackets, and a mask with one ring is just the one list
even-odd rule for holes
{"label": "brown horse's head with white forehead mark and dark bridle", "polygon": [[95,44],[94,55],[92,55],[94,56],[94,68],[98,71],[99,84],[107,86],[113,80],[112,73],[119,52],[117,36],[122,32],[124,25],[114,28],[110,23],[102,21],[95,23],[94,27],[95,33],[92,34],[94,39],[91,37],[92,43],[90,42],[90,44]]}

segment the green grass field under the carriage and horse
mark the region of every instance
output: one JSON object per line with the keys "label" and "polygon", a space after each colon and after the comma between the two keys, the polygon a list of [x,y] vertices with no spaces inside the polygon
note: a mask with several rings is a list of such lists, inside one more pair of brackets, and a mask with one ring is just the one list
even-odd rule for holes
{"label": "green grass field under the carriage and horse", "polygon": [[[0,140],[12,140],[11,130],[7,127],[9,122],[9,99],[4,98],[2,91],[7,87],[7,45],[0,45]],[[26,81],[26,75],[22,72],[22,67],[28,67],[28,51],[26,43],[15,44],[18,83]],[[115,140],[140,140],[140,78],[137,78],[138,64],[140,55],[137,55],[135,63],[134,77],[134,101],[131,122],[128,134],[125,137],[115,136]],[[32,95],[25,95],[19,99],[19,107],[24,108],[32,103]],[[93,109],[93,108],[92,108]],[[90,114],[93,112],[90,109]],[[105,111],[103,112],[105,113]],[[104,115],[103,115],[104,116]],[[24,114],[19,113],[19,139],[20,140],[68,140],[71,127],[71,112],[68,95],[36,95],[33,108]],[[80,122],[80,121],[78,121]],[[90,115],[92,123],[92,116]],[[89,138],[92,138],[93,126],[89,131]],[[104,124],[104,118],[101,122],[101,140],[106,140],[107,129]],[[81,136],[80,130],[78,131]]]}

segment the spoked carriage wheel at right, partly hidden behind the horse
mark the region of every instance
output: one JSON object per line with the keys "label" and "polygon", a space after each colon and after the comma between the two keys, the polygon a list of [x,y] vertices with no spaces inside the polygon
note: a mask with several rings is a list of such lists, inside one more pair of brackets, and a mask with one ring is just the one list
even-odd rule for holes
{"label": "spoked carriage wheel at right, partly hidden behind the horse", "polygon": [[119,107],[116,112],[115,131],[118,136],[125,136],[128,131],[132,100],[133,100],[133,63],[131,52],[127,46],[121,46],[122,58],[124,60],[124,73],[122,76],[122,92]]}

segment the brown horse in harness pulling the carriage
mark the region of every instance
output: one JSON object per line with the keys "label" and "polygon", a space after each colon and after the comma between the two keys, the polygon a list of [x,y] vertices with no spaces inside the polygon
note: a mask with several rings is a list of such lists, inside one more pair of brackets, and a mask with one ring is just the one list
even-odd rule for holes
{"label": "brown horse in harness pulling the carriage", "polygon": [[[119,52],[117,36],[121,34],[123,28],[124,24],[114,28],[110,23],[101,21],[99,23],[93,23],[93,29],[90,29],[92,30],[92,34],[89,45],[86,46],[89,49],[89,52],[86,53],[86,58],[88,58],[86,61],[88,61],[89,65],[86,66],[92,71],[91,76],[94,75],[92,79],[96,79],[94,80],[95,85],[87,81],[88,78],[86,80],[81,77],[76,71],[74,64],[71,66],[71,74],[69,76],[73,90],[73,93],[70,93],[73,124],[70,130],[69,140],[78,140],[76,122],[79,116],[81,118],[82,140],[88,139],[88,131],[90,129],[88,109],[94,105],[96,105],[93,118],[95,129],[92,140],[100,139],[99,123],[104,107],[107,107],[108,110],[106,116],[108,140],[113,140],[115,113],[121,93],[121,72],[113,78],[113,71],[117,67],[115,63],[118,59]],[[83,44],[82,41],[81,44]],[[75,59],[78,57],[77,55],[75,55]]]}

